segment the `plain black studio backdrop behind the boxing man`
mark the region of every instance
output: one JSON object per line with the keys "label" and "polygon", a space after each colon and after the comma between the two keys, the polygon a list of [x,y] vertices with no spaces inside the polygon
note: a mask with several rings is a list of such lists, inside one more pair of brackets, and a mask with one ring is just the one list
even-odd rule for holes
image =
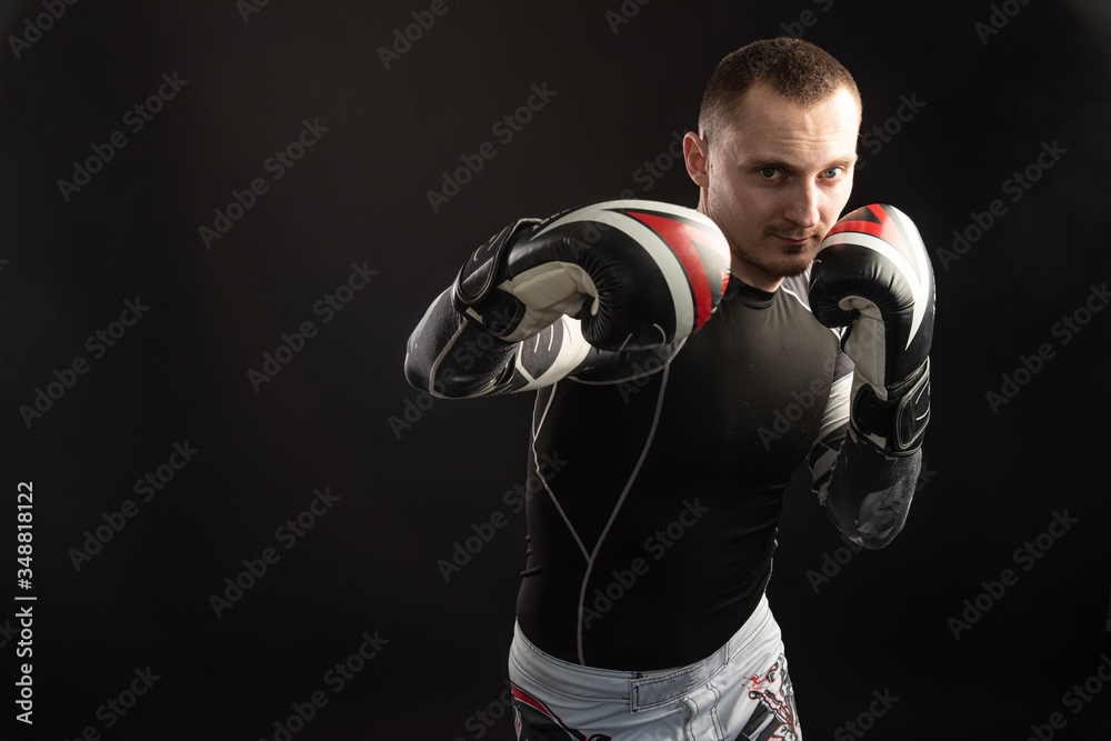
{"label": "plain black studio backdrop behind the boxing man", "polygon": [[[233,0],[57,4],[58,19],[0,6],[0,733],[27,730],[10,722],[26,661],[10,615],[33,594],[42,738],[274,739],[316,691],[328,703],[296,739],[512,738],[524,533],[502,495],[524,478],[531,399],[429,404],[401,372],[406,339],[512,219],[622,194],[693,206],[672,132],[695,124],[723,54],[792,33],[853,72],[862,133],[898,129],[862,140],[850,208],[910,214],[938,286],[930,474],[904,533],[818,582],[849,551],[803,480],[788,498],[769,595],[807,739],[855,738],[844,724],[873,692],[898,698],[864,719],[874,739],[1047,738],[1054,712],[1053,738],[1107,738],[1111,688],[1079,712],[1064,694],[1108,650],[1111,312],[1067,344],[1053,329],[1111,278],[1105,2],[447,0],[433,16],[273,0],[246,20]],[[379,49],[414,12],[434,23],[387,69]],[[126,112],[174,72],[184,86],[133,132]],[[492,127],[533,84],[554,96],[504,142]],[[904,100],[919,110],[889,120]],[[266,161],[303,121],[328,130],[273,180]],[[67,201],[59,180],[114,131],[126,147]],[[428,191],[484,142],[496,157],[433,209]],[[1054,142],[1064,153],[1040,171]],[[1005,181],[1032,164],[1012,200]],[[267,192],[206,249],[199,228],[256,178]],[[1003,214],[942,264],[995,200]],[[313,307],[352,264],[377,274],[324,322]],[[96,358],[86,339],[137,297],[149,310]],[[319,333],[256,391],[248,371],[306,321]],[[985,393],[1043,343],[1052,358],[993,411]],[[78,357],[87,372],[28,424],[20,408]],[[199,452],[142,501],[134,482],[186,441]],[[20,481],[34,491],[27,591]],[[339,499],[287,550],[276,530],[324,488]],[[127,500],[134,517],[78,570],[86,531]],[[497,512],[508,524],[446,582],[438,561]],[[1077,522],[1017,561],[1054,513]],[[280,559],[218,618],[210,595],[266,548]],[[1017,582],[954,638],[949,619],[1008,568]],[[388,643],[336,692],[326,673],[364,632]],[[148,667],[159,679],[126,714],[101,708],[130,704]]]}

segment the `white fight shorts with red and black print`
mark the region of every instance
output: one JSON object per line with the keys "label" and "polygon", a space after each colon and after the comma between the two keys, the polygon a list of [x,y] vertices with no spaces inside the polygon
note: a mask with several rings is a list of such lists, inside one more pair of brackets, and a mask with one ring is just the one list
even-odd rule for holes
{"label": "white fight shorts with red and black print", "polygon": [[518,741],[801,741],[779,623],[763,597],[714,653],[637,672],[551,657],[518,625],[509,654]]}

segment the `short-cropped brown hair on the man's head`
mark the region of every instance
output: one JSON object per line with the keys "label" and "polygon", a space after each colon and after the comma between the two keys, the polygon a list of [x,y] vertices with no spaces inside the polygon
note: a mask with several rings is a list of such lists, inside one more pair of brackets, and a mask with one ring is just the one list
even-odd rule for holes
{"label": "short-cropped brown hair on the man's head", "polygon": [[718,62],[702,94],[699,134],[709,141],[714,131],[739,112],[738,103],[757,82],[808,107],[847,88],[860,107],[857,81],[832,54],[801,39],[764,39],[741,47]]}

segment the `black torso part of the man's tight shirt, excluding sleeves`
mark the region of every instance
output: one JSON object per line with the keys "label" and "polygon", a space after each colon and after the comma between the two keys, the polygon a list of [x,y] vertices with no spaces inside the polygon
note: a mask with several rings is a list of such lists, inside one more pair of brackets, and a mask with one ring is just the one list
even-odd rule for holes
{"label": "black torso part of the man's tight shirt, excluding sleeves", "polygon": [[541,471],[548,495],[529,503],[529,640],[612,669],[678,667],[724,643],[763,594],[783,490],[850,370],[838,343],[803,279],[767,293],[734,278],[673,358],[640,363],[650,375],[541,389],[532,465],[564,463]]}

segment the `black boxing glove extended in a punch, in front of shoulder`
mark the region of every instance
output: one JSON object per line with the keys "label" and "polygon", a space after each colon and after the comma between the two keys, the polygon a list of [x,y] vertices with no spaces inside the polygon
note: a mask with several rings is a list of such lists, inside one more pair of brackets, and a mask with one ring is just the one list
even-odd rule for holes
{"label": "black boxing glove extended in a punch, in front of shoulder", "polygon": [[599,349],[640,350],[705,323],[729,262],[708,217],[655,201],[607,201],[510,224],[463,264],[452,301],[509,342],[568,314]]}

